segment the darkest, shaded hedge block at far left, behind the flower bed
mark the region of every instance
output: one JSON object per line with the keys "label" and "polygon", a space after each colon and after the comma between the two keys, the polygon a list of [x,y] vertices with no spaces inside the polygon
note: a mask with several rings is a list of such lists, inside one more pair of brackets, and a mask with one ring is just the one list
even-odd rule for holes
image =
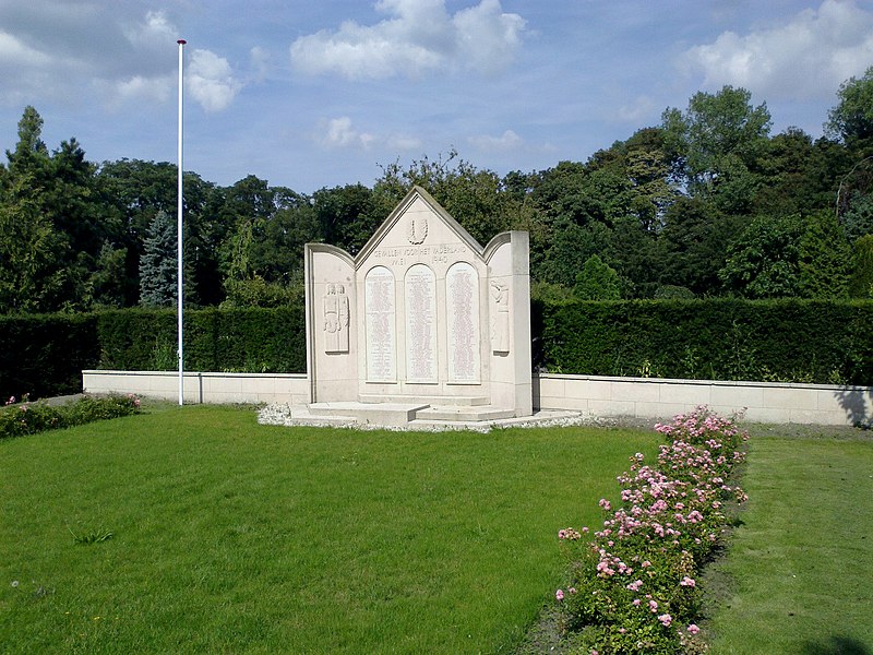
{"label": "darkest, shaded hedge block at far left, behind the flower bed", "polygon": [[79,392],[99,357],[95,314],[0,315],[0,398]]}

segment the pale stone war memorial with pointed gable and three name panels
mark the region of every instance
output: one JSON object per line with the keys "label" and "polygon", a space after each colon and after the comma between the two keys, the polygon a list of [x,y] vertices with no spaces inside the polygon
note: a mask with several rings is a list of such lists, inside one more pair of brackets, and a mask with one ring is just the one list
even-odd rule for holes
{"label": "pale stone war memorial with pointed gable and three name panels", "polygon": [[310,409],[402,415],[387,424],[530,416],[529,293],[527,233],[482,248],[419,187],[357,257],[308,243]]}

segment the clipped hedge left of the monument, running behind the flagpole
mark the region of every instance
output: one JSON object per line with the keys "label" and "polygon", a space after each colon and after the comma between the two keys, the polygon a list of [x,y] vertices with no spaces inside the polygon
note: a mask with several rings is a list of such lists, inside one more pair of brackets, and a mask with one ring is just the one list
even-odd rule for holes
{"label": "clipped hedge left of the monument, running behind the flagpole", "polygon": [[[0,397],[82,390],[83,369],[176,370],[172,310],[0,317]],[[184,314],[187,370],[306,372],[303,308]]]}

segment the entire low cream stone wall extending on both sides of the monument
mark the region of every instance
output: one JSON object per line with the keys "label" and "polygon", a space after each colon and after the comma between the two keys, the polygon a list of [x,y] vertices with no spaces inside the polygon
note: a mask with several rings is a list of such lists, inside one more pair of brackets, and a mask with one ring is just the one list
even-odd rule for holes
{"label": "entire low cream stone wall extending on both sides of the monument", "polygon": [[[596,416],[659,419],[708,405],[721,414],[745,409],[756,422],[870,425],[873,388],[777,382],[660,380],[598,376],[534,376],[534,407],[577,409]],[[82,371],[89,393],[136,393],[176,400],[179,373],[155,371]],[[306,404],[303,373],[187,372],[188,403]]]}

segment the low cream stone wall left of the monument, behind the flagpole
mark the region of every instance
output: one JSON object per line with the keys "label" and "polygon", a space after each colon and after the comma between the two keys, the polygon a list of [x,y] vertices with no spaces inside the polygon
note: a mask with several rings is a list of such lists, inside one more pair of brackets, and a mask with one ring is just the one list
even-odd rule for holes
{"label": "low cream stone wall left of the monument, behind the flagpole", "polygon": [[[178,371],[82,371],[87,393],[135,393],[178,400]],[[186,403],[291,403],[303,404],[309,382],[304,373],[186,372]]]}

